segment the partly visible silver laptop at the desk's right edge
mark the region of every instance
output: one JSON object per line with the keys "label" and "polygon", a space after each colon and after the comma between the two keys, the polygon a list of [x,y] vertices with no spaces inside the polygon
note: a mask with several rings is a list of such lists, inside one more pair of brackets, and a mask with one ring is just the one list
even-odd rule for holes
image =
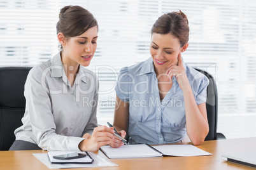
{"label": "partly visible silver laptop at the desk's right edge", "polygon": [[256,167],[255,151],[222,155],[222,159],[236,164],[242,164],[244,166]]}

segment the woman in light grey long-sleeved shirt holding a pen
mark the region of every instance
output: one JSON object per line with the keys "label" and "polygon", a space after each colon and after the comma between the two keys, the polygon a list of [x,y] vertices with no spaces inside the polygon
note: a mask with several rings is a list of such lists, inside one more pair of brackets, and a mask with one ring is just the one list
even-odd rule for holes
{"label": "woman in light grey long-sleeved shirt holding a pen", "polygon": [[97,127],[99,82],[85,68],[97,48],[97,20],[80,6],[65,6],[56,29],[60,52],[29,72],[23,125],[10,150],[94,152],[110,143],[124,145],[113,128]]}

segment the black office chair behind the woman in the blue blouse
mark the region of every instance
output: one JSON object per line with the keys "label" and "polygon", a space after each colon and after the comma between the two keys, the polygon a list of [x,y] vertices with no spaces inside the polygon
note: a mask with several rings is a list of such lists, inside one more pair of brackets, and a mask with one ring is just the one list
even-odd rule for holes
{"label": "black office chair behind the woman in the blue blouse", "polygon": [[[196,69],[196,68],[195,68]],[[215,80],[211,74],[204,70],[196,69],[209,79],[207,87],[206,110],[209,123],[209,133],[205,140],[224,140],[225,136],[222,133],[217,133],[218,124],[218,93]]]}

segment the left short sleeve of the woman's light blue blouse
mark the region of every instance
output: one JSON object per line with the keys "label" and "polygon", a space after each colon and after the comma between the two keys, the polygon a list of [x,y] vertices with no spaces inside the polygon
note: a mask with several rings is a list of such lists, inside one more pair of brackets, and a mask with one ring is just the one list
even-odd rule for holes
{"label": "left short sleeve of the woman's light blue blouse", "polygon": [[128,67],[122,68],[118,74],[117,86],[115,87],[115,92],[120,100],[129,101],[129,83],[132,81],[134,82],[128,72]]}

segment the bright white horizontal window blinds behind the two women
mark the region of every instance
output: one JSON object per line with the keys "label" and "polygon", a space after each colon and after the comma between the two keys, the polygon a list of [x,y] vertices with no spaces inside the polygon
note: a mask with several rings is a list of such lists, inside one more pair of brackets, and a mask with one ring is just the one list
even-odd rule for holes
{"label": "bright white horizontal window blinds behind the two women", "polygon": [[63,6],[80,5],[99,23],[89,69],[99,77],[99,124],[113,121],[115,84],[122,67],[150,57],[150,29],[163,13],[183,11],[190,26],[192,67],[215,77],[218,131],[256,136],[256,2],[253,0],[1,0],[0,66],[36,65],[57,53],[55,24]]}

